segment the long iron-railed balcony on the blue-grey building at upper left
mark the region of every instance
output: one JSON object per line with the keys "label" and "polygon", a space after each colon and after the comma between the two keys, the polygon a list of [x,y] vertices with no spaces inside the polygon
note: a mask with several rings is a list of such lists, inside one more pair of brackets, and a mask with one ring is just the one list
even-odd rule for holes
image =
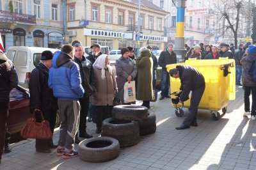
{"label": "long iron-railed balcony on the blue-grey building at upper left", "polygon": [[28,15],[23,13],[12,13],[0,10],[0,21],[4,22],[24,22],[36,24],[36,15]]}

